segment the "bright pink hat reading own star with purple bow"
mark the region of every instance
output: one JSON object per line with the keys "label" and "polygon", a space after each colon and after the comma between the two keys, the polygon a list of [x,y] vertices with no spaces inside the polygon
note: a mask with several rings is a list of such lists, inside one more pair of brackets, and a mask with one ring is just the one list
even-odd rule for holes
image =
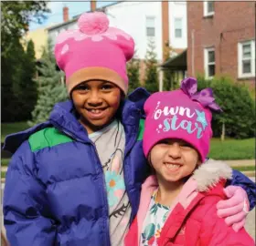
{"label": "bright pink hat reading own star with purple bow", "polygon": [[197,149],[204,161],[212,136],[210,109],[219,111],[210,88],[197,92],[197,80],[189,77],[174,91],[157,92],[144,105],[144,155],[165,138],[180,138]]}

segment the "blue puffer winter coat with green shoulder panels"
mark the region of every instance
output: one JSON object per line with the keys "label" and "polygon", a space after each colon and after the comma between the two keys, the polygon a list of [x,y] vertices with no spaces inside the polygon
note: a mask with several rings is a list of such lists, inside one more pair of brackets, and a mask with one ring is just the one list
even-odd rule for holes
{"label": "blue puffer winter coat with green shoulder panels", "polygon": [[[126,135],[124,179],[132,216],[138,210],[141,185],[149,174],[142,149],[143,105],[137,89],[122,107]],[[59,103],[47,122],[5,139],[15,152],[4,195],[8,241],[17,245],[111,245],[107,192],[101,162],[70,101]],[[247,190],[254,207],[254,184],[240,173],[231,181]]]}

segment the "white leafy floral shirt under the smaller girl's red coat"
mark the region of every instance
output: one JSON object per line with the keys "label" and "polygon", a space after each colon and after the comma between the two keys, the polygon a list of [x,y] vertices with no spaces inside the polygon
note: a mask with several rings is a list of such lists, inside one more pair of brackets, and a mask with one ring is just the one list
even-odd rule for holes
{"label": "white leafy floral shirt under the smaller girl's red coat", "polygon": [[[158,190],[158,189],[157,189]],[[144,219],[141,234],[141,246],[157,246],[156,240],[160,237],[165,220],[168,218],[171,209],[155,201],[157,190],[154,191],[149,204],[149,210]]]}

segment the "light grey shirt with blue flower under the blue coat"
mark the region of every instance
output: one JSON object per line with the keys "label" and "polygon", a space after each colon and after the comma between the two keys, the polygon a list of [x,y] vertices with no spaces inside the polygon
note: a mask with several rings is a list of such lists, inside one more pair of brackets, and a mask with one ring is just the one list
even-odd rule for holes
{"label": "light grey shirt with blue flower under the blue coat", "polygon": [[120,121],[89,135],[94,142],[102,169],[109,202],[110,236],[112,246],[122,246],[132,213],[123,179],[125,133]]}

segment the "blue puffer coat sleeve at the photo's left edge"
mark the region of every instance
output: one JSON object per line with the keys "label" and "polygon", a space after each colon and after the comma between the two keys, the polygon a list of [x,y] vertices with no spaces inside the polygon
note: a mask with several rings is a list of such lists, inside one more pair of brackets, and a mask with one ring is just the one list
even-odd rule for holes
{"label": "blue puffer coat sleeve at the photo's left edge", "polygon": [[56,226],[50,219],[46,188],[37,179],[34,154],[24,142],[9,164],[4,192],[4,221],[12,246],[54,245]]}

